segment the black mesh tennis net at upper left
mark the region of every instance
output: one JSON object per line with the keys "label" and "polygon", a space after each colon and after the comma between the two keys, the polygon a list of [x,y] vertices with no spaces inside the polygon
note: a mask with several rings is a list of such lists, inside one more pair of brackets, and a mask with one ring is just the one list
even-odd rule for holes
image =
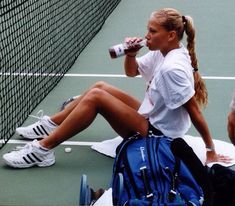
{"label": "black mesh tennis net at upper left", "polygon": [[0,148],[121,0],[0,1]]}

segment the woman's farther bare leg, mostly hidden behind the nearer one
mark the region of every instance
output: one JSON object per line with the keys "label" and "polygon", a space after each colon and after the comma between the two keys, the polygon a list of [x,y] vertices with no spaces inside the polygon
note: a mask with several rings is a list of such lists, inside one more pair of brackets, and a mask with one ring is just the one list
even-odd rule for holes
{"label": "woman's farther bare leg, mostly hidden behind the nearer one", "polygon": [[73,102],[71,102],[63,111],[53,115],[51,117],[51,120],[53,122],[55,122],[56,124],[60,125],[66,119],[66,117],[73,111],[73,109],[80,103],[80,101],[83,99],[83,97],[90,90],[92,90],[94,88],[98,88],[98,89],[101,89],[101,90],[108,92],[109,94],[111,94],[112,96],[121,100],[122,102],[129,105],[130,107],[132,107],[135,110],[138,110],[140,107],[140,102],[136,98],[128,95],[124,91],[122,91],[122,90],[120,90],[110,84],[107,84],[105,82],[100,81],[100,82],[97,82],[96,84],[94,84],[83,95],[81,95],[80,97],[75,99]]}

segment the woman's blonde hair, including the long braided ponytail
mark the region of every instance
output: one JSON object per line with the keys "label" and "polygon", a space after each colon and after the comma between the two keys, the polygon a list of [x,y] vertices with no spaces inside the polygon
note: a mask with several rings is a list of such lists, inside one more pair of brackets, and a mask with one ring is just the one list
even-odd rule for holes
{"label": "woman's blonde hair, including the long braided ponytail", "polygon": [[192,17],[182,16],[172,8],[164,8],[153,12],[150,18],[155,18],[155,21],[167,31],[176,31],[179,40],[182,40],[184,32],[186,33],[187,49],[191,58],[191,65],[194,68],[195,98],[200,107],[205,107],[208,103],[208,93],[205,82],[198,72],[198,61],[195,52],[195,28]]}

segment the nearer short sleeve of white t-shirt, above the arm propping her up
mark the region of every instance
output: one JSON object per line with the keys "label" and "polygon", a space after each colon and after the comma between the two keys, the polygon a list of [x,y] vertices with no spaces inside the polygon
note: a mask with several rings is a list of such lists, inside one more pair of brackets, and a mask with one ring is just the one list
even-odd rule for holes
{"label": "nearer short sleeve of white t-shirt, above the arm propping her up", "polygon": [[169,109],[182,106],[194,95],[194,83],[185,71],[175,69],[161,75],[158,82],[159,91]]}

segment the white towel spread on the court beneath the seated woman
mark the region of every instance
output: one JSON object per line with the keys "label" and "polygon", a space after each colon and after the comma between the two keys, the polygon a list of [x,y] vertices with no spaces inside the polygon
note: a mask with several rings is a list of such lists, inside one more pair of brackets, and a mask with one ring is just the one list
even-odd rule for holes
{"label": "white towel spread on the court beneath the seated woman", "polygon": [[[201,137],[194,137],[190,135],[185,135],[184,140],[191,146],[195,152],[195,154],[198,156],[198,158],[201,160],[201,162],[204,164],[206,160],[206,149],[205,144]],[[93,145],[91,148],[96,150],[99,153],[102,153],[104,155],[115,157],[116,155],[116,148],[121,143],[122,138],[120,136],[117,136],[110,140],[105,140],[100,143],[97,143]],[[218,163],[220,165],[229,167],[235,164],[235,148],[231,143],[216,140],[214,139],[214,144],[216,148],[216,152],[218,154],[226,155],[232,158],[232,161],[230,163],[221,163],[221,162],[213,162],[208,164],[209,167],[211,167],[213,164]]]}

